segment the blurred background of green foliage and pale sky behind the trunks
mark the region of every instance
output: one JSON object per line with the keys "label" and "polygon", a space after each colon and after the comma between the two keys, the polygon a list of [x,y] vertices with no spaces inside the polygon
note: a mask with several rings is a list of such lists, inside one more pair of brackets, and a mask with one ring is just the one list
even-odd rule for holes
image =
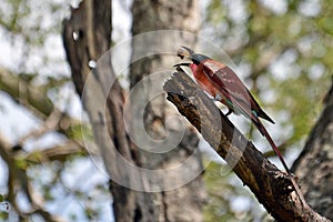
{"label": "blurred background of green foliage and pale sky behind the trunks", "polygon": [[[219,46],[231,58],[240,78],[274,119],[276,124],[266,124],[268,130],[292,165],[331,88],[333,1],[186,2],[198,24],[193,22],[196,27],[191,27],[190,20],[190,28],[184,29]],[[3,221],[115,221],[103,160],[98,151],[88,152],[84,148],[82,134],[93,133],[87,118],[82,119],[83,108],[63,47],[62,21],[79,3],[0,2],[0,201],[10,204],[9,211],[0,212]],[[140,4],[148,7],[147,14],[137,13]],[[150,18],[150,9],[159,10],[158,7],[180,13],[176,3],[167,4],[112,0],[111,46],[147,31],[144,24],[137,26],[140,16],[152,21],[147,24],[154,27],[151,30],[168,29],[168,22],[173,22],[170,29],[182,30],[174,26],[176,20],[160,27],[159,19]],[[131,47],[117,56],[121,62],[130,62]],[[129,75],[124,72],[119,79],[124,91],[134,82]],[[250,124],[239,117],[231,120],[240,129]],[[259,148],[268,148],[255,130],[246,132],[246,137]],[[211,161],[209,145],[200,140],[198,147],[205,165],[200,220],[270,220],[232,172],[221,173],[225,172],[224,162]],[[261,151],[282,169],[270,150]]]}

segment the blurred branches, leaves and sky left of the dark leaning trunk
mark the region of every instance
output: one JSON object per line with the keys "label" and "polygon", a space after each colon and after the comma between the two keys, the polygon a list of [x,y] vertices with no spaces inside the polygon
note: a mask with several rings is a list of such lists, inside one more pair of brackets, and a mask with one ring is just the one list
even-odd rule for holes
{"label": "blurred branches, leaves and sky left of the dark leaning trunk", "polygon": [[0,212],[1,220],[110,218],[108,179],[90,173],[97,162],[84,149],[84,141],[93,138],[91,129],[72,111],[78,98],[61,39],[69,2],[4,0],[0,13],[6,54],[0,57],[0,91],[6,92],[0,114],[20,121],[14,125],[19,130],[0,128],[1,176],[8,178],[0,183],[0,196],[10,203],[9,212]]}

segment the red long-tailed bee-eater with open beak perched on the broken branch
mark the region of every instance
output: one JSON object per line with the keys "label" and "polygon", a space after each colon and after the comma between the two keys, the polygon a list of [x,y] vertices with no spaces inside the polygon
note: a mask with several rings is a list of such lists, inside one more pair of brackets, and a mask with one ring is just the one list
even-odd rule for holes
{"label": "red long-tailed bee-eater with open beak perched on the broken branch", "polygon": [[[189,67],[194,75],[198,84],[206,91],[215,100],[228,107],[230,113],[243,114],[249,118],[258,130],[265,137],[271,144],[273,151],[282,162],[285,171],[291,175],[291,172],[284,162],[281,152],[272,140],[271,135],[262,124],[260,118],[268,120],[271,123],[274,121],[261,109],[251,92],[240,80],[240,78],[225,64],[214,61],[211,58],[195,53],[193,50],[181,47],[176,53],[181,59],[189,58],[192,63],[179,63],[174,67]],[[301,191],[292,178],[293,185],[300,198],[304,201]]]}

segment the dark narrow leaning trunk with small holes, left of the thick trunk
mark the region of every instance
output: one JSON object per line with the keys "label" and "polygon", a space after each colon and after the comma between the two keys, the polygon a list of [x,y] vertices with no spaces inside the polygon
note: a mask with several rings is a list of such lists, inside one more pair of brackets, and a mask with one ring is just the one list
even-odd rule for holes
{"label": "dark narrow leaning trunk with small holes, left of the thick trunk", "polygon": [[[115,220],[153,221],[149,193],[128,188],[142,179],[119,164],[125,161],[135,165],[135,160],[123,128],[123,92],[114,77],[111,54],[101,59],[111,46],[111,2],[85,0],[73,9],[71,18],[63,22],[64,48],[73,82],[92,124],[94,142],[111,178]],[[114,180],[122,180],[128,186]]]}

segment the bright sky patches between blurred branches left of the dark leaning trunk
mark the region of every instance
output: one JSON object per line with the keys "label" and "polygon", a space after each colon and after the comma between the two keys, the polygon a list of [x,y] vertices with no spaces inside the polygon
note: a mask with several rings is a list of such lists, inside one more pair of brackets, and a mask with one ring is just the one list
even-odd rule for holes
{"label": "bright sky patches between blurred branches left of the dark leaning trunk", "polygon": [[[38,12],[31,18],[32,21],[42,18],[41,27],[47,30],[49,27],[54,26],[54,22],[61,24],[61,20],[70,14],[69,7],[65,10],[61,10],[58,14],[49,12],[50,9],[43,7],[47,1],[32,0],[30,1],[32,8],[38,8]],[[53,0],[63,6],[68,6],[65,0]],[[72,6],[78,6],[77,0],[72,0]],[[120,4],[114,6],[118,11],[122,11]],[[39,10],[43,8],[43,10]],[[118,9],[117,9],[118,8]],[[0,3],[0,9],[10,11],[4,2]],[[123,20],[120,13],[119,19]],[[57,19],[54,19],[57,18]],[[118,19],[115,21],[119,22]],[[27,21],[26,27],[32,28],[34,24]],[[27,29],[28,29],[27,28]],[[120,38],[120,37],[119,37]],[[61,34],[58,32],[50,33],[47,37],[46,43],[36,48],[29,48],[29,52],[24,51],[22,39],[20,37],[10,36],[6,30],[0,28],[0,67],[4,67],[13,72],[39,72],[41,77],[37,80],[43,82],[43,78],[48,77],[70,77],[70,69],[65,62],[65,54],[63,50],[63,43]],[[29,60],[24,61],[22,58],[29,53]],[[47,60],[44,59],[47,58]],[[82,108],[81,101],[78,98],[73,84],[65,84],[59,91],[52,91],[49,97],[54,101],[58,108],[68,112],[71,117],[81,119]],[[37,130],[41,125],[41,121],[33,117],[27,109],[18,105],[6,93],[0,92],[0,133],[3,134],[11,144],[18,142],[19,138],[26,135],[31,130]],[[24,150],[32,151],[34,149],[46,149],[54,144],[63,142],[63,138],[54,132],[47,133],[46,135],[31,139],[24,144]],[[104,184],[108,186],[108,178],[105,172],[101,169],[97,159],[78,159],[65,167],[62,173],[62,186],[52,188],[51,192],[56,195],[56,200],[46,205],[48,210],[53,213],[58,213],[61,216],[71,219],[72,215],[77,216],[78,221],[84,221],[84,208],[87,208],[87,201],[84,199],[79,200],[74,195],[69,195],[67,190],[80,191],[87,194],[87,198],[95,199],[93,203],[94,209],[100,209],[101,214],[99,221],[113,221],[110,196],[105,196],[104,193],[100,193],[92,188],[95,184]],[[99,164],[99,167],[97,167]],[[48,184],[52,179],[54,172],[53,167],[43,165],[38,169],[32,169],[29,173],[31,176],[39,176],[39,183],[34,184],[34,188],[41,184]],[[87,180],[87,173],[90,175]],[[0,194],[7,193],[7,168],[0,159]],[[65,188],[63,190],[63,188]],[[27,209],[27,198],[19,193],[19,204],[22,209]],[[12,219],[14,220],[14,219]],[[39,221],[38,219],[34,219]]]}

